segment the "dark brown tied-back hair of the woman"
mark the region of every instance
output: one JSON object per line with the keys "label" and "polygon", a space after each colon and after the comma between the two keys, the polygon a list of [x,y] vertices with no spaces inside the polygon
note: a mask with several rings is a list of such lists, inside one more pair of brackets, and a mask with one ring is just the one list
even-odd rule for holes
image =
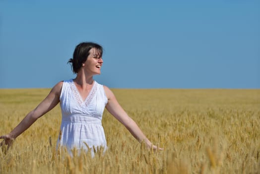
{"label": "dark brown tied-back hair of the woman", "polygon": [[78,44],[73,53],[73,59],[69,59],[67,63],[71,64],[73,73],[78,73],[79,69],[82,67],[82,64],[87,60],[89,51],[92,48],[96,48],[99,56],[103,54],[103,48],[97,43],[94,42],[82,42]]}

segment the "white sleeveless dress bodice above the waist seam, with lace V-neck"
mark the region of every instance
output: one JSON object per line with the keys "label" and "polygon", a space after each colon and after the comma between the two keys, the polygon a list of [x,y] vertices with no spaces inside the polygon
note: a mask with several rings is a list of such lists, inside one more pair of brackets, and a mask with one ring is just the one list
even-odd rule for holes
{"label": "white sleeveless dress bodice above the waist seam, with lace V-neck", "polygon": [[96,81],[84,101],[73,80],[64,81],[60,96],[62,119],[72,122],[101,121],[107,102],[104,87]]}

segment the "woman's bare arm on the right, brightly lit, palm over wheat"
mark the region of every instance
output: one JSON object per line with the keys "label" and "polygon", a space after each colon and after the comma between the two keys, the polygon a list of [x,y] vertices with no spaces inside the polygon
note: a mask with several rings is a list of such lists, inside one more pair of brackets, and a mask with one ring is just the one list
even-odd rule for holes
{"label": "woman's bare arm on the right, brightly lit, palm over wheat", "polygon": [[148,138],[143,134],[138,125],[128,116],[126,111],[121,107],[118,103],[114,93],[106,86],[104,86],[108,103],[106,105],[107,110],[118,119],[126,128],[130,131],[132,136],[138,140],[139,142],[144,142],[148,148],[152,148],[154,150],[163,150],[157,146],[154,146]]}

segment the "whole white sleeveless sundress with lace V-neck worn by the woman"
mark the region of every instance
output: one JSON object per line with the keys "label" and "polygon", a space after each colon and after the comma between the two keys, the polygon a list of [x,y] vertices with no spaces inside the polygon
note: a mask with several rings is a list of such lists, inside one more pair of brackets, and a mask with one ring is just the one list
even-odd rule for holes
{"label": "whole white sleeveless sundress with lace V-neck worn by the woman", "polygon": [[85,101],[82,100],[73,80],[64,81],[60,105],[62,110],[61,132],[57,147],[65,147],[71,154],[73,148],[88,150],[85,143],[107,149],[107,141],[101,124],[104,108],[108,102],[103,85],[93,82]]}

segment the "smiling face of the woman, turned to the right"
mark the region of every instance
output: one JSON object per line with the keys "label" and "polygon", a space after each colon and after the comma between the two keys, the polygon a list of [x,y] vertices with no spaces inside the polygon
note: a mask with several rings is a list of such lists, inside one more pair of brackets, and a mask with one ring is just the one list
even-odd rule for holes
{"label": "smiling face of the woman, turned to the right", "polygon": [[103,59],[96,48],[89,50],[86,62],[82,65],[89,75],[100,75]]}

